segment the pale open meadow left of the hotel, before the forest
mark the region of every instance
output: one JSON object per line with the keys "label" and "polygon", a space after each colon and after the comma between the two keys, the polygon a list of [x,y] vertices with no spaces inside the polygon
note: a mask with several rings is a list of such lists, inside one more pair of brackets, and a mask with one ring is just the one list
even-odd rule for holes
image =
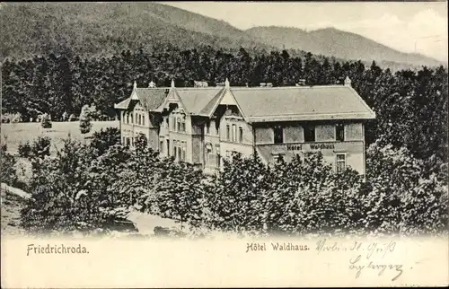
{"label": "pale open meadow left of the hotel, before the forest", "polygon": [[[101,128],[106,127],[119,127],[119,121],[92,121],[92,129],[86,136],[92,136],[92,133],[99,131]],[[60,148],[62,140],[71,137],[83,141],[84,136],[80,132],[79,122],[53,122],[53,127],[42,128],[40,123],[9,123],[1,125],[2,139],[1,143],[8,146],[8,151],[11,153],[17,153],[19,145],[26,141],[32,142],[38,136],[51,137],[51,149],[52,153],[55,152],[55,146]]]}

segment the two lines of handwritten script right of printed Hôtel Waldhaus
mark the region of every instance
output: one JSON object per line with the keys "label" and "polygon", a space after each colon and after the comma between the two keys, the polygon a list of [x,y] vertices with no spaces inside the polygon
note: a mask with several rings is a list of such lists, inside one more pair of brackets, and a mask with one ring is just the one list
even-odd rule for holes
{"label": "two lines of handwritten script right of printed H\u00f4tel Waldhaus", "polygon": [[348,252],[351,254],[348,268],[355,271],[356,278],[364,272],[376,272],[377,276],[383,276],[385,271],[392,271],[392,281],[395,281],[403,273],[402,264],[392,264],[391,261],[385,259],[387,255],[392,254],[395,248],[395,241],[353,241],[350,244],[342,244],[324,239],[316,243],[315,250],[318,254],[324,252]]}

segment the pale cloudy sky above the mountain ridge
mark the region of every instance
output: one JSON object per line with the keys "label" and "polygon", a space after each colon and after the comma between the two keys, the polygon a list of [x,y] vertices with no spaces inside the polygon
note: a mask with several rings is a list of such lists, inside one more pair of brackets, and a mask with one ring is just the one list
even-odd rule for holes
{"label": "pale cloudy sky above the mountain ridge", "polygon": [[447,62],[447,3],[440,2],[162,2],[245,30],[334,27],[403,52]]}

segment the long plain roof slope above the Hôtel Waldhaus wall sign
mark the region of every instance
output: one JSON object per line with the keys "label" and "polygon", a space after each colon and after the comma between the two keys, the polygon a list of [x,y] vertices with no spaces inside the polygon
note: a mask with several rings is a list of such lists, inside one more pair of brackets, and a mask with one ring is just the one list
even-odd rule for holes
{"label": "long plain roof slope above the H\u00f4tel Waldhaus wall sign", "polygon": [[233,87],[231,91],[248,122],[375,118],[350,86]]}

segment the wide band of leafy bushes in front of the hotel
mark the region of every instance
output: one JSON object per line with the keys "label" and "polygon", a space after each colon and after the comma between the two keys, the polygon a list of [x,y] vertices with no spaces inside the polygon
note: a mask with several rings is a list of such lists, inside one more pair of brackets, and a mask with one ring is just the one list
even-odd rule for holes
{"label": "wide band of leafy bushes in front of the hotel", "polygon": [[364,181],[350,169],[335,173],[321,153],[270,166],[257,155],[235,153],[215,176],[159,157],[145,136],[136,137],[135,149],[119,145],[113,129],[93,139],[89,146],[67,140],[55,158],[35,160],[40,165],[31,183],[33,198],[22,212],[23,226],[39,232],[108,231],[136,206],[197,232],[447,230],[444,183],[405,149],[371,145]]}

